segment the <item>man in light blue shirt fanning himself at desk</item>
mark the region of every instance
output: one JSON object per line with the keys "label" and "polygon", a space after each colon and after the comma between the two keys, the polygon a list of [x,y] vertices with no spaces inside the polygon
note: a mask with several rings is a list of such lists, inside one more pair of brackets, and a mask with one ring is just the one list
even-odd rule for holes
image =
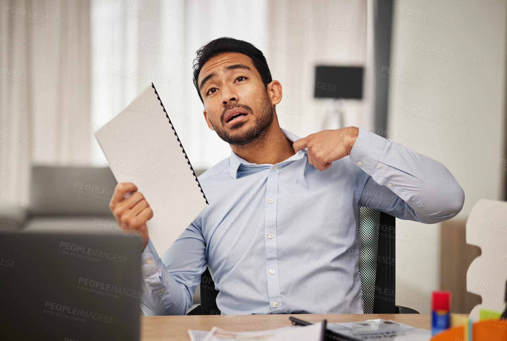
{"label": "man in light blue shirt fanning himself at desk", "polygon": [[186,314],[206,267],[223,314],[363,313],[359,207],[436,223],[463,206],[442,164],[391,140],[356,127],[301,139],[281,129],[282,87],[249,43],[203,46],[194,85],[232,149],[199,177],[209,205],[160,258],[146,226],[157,212],[137,187],[118,184],[110,204],[124,231],[143,236],[146,315]]}

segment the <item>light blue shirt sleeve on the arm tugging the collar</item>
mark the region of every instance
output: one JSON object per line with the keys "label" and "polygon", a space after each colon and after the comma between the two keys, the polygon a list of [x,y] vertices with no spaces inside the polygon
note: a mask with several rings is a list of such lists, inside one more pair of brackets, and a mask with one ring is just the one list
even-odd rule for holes
{"label": "light blue shirt sleeve on the arm tugging the collar", "polygon": [[461,211],[464,192],[440,162],[359,128],[349,159],[360,206],[436,223]]}

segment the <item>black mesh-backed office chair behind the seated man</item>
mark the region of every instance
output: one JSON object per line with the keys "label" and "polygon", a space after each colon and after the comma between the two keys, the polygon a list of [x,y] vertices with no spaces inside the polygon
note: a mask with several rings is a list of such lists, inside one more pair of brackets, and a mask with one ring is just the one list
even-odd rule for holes
{"label": "black mesh-backed office chair behind the seated man", "polygon": [[[418,314],[395,305],[395,219],[368,207],[359,209],[359,274],[365,314]],[[219,291],[209,270],[201,275],[201,304],[187,315],[220,315],[216,306]]]}

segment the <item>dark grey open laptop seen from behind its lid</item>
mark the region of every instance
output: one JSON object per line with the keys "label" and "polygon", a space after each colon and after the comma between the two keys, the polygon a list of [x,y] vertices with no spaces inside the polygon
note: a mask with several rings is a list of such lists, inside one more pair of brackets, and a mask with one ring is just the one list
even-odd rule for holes
{"label": "dark grey open laptop seen from behind its lid", "polygon": [[3,338],[138,341],[140,252],[137,235],[0,233]]}

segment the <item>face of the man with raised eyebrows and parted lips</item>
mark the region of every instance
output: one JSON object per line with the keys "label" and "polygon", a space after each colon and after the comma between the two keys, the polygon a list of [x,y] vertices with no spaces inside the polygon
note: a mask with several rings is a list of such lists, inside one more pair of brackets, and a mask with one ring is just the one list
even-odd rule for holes
{"label": "face of the man with raised eyebrows and parted lips", "polygon": [[250,57],[229,52],[211,58],[199,72],[198,84],[208,127],[224,141],[250,143],[273,122],[272,105],[277,103]]}

